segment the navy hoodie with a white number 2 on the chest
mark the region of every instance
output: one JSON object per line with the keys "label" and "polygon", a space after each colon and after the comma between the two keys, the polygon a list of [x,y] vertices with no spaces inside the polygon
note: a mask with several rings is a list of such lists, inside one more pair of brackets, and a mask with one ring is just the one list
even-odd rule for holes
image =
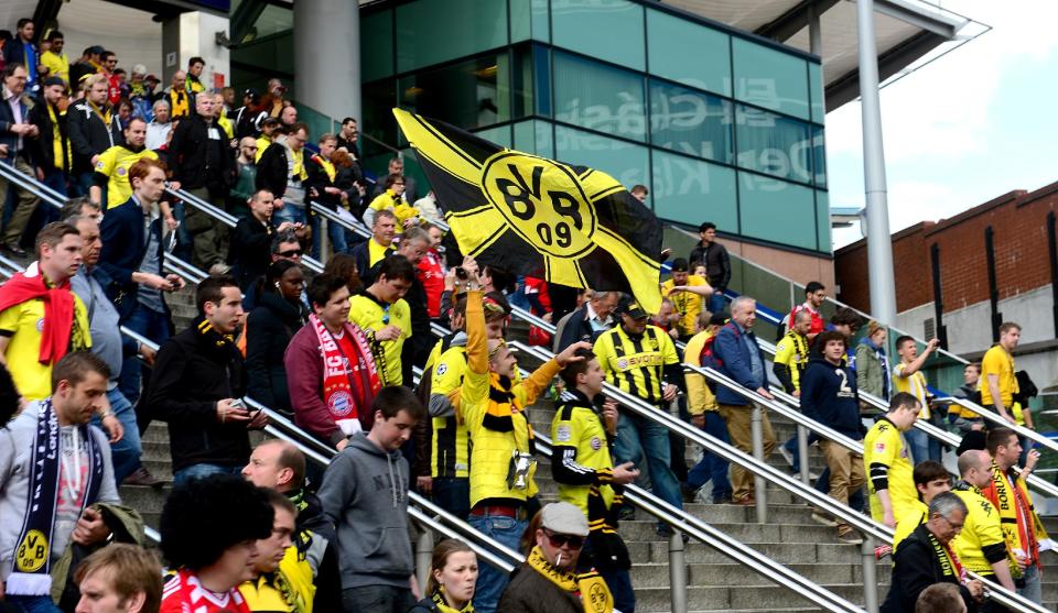
{"label": "navy hoodie with a white number 2 on the chest", "polygon": [[801,413],[854,440],[862,438],[855,372],[813,355],[801,375]]}

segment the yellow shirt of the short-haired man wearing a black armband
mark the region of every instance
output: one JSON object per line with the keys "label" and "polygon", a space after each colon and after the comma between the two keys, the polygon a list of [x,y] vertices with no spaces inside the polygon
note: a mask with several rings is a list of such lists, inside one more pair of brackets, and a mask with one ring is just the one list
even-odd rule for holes
{"label": "yellow shirt of the short-haired man wearing a black armband", "polygon": [[875,522],[882,522],[885,516],[882,503],[878,502],[875,488],[873,464],[888,468],[886,480],[889,501],[893,503],[893,517],[899,521],[908,511],[914,511],[918,500],[918,490],[915,489],[915,470],[907,456],[904,437],[896,426],[885,417],[871,426],[867,436],[863,439],[863,467],[867,471],[867,489],[871,493],[871,516]]}

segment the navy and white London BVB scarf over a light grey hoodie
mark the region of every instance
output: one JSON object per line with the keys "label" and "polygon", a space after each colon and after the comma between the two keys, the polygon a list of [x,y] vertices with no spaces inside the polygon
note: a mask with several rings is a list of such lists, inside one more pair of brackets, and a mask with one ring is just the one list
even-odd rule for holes
{"label": "navy and white London BVB scarf over a light grey hoodie", "polygon": [[[82,497],[82,512],[89,501],[99,494],[102,482],[102,450],[87,424],[75,426],[88,445],[88,482]],[[75,439],[76,440],[76,439]],[[75,456],[80,449],[71,450]],[[8,577],[7,593],[21,595],[47,595],[52,590],[51,555],[55,512],[58,508],[62,453],[60,449],[58,417],[52,408],[52,399],[41,403],[36,418],[36,436],[30,457],[30,501],[22,533],[14,552],[14,571]],[[79,480],[79,474],[66,474],[67,480]],[[79,493],[79,492],[78,492]]]}

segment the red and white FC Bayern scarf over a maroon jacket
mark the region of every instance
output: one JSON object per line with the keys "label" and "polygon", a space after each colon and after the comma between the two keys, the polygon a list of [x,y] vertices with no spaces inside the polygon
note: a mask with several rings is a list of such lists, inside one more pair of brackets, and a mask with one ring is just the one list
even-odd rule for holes
{"label": "red and white FC Bayern scarf over a maroon jacket", "polygon": [[361,429],[359,408],[370,407],[382,388],[371,348],[359,328],[345,324],[344,331],[356,351],[356,355],[346,355],[319,317],[310,315],[309,322],[323,354],[323,402],[338,428],[346,436],[354,435]]}

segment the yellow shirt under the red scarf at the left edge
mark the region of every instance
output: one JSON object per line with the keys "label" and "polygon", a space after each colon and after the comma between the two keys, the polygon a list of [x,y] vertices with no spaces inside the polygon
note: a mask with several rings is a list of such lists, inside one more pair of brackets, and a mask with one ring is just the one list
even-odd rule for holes
{"label": "yellow shirt under the red scarf at the left edge", "polygon": [[[88,310],[74,294],[75,329],[71,337],[77,349],[91,347],[88,330],[78,332],[76,321],[88,320]],[[0,311],[0,333],[10,337],[3,358],[19,393],[28,401],[43,401],[52,395],[52,364],[42,364],[41,338],[44,331],[44,300],[36,298]]]}

